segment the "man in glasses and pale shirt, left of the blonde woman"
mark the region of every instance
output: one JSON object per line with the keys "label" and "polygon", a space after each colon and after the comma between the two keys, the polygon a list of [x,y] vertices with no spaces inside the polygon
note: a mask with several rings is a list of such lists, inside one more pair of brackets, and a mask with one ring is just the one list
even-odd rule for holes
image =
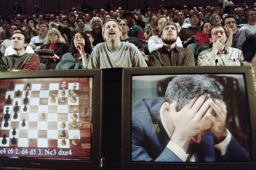
{"label": "man in glasses and pale shirt, left of the blonde woman", "polygon": [[49,25],[44,21],[40,22],[39,24],[40,33],[38,34],[38,36],[31,38],[29,42],[29,46],[31,46],[34,50],[40,49],[41,46],[44,45],[44,38],[47,36],[48,31],[49,31]]}

